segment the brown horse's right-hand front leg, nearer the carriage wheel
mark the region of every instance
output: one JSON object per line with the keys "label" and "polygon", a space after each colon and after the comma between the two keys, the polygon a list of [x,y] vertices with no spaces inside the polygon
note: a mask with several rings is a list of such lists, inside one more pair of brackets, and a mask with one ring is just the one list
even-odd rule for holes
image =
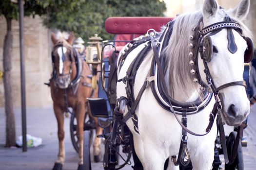
{"label": "brown horse's right-hand front leg, nearer the carriage wheel", "polygon": [[85,115],[85,104],[80,102],[76,107],[77,137],[79,142],[79,165],[83,164],[83,126]]}

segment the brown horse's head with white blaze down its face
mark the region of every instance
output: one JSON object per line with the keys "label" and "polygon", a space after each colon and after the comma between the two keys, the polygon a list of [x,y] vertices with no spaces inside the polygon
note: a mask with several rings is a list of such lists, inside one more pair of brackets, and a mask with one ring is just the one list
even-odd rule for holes
{"label": "brown horse's head with white blaze down its face", "polygon": [[75,52],[71,46],[74,34],[71,33],[68,39],[64,37],[57,38],[55,34],[51,33],[51,39],[54,44],[52,51],[52,62],[53,62],[53,77],[56,85],[59,88],[67,88],[71,83],[72,65],[75,63],[74,55]]}

